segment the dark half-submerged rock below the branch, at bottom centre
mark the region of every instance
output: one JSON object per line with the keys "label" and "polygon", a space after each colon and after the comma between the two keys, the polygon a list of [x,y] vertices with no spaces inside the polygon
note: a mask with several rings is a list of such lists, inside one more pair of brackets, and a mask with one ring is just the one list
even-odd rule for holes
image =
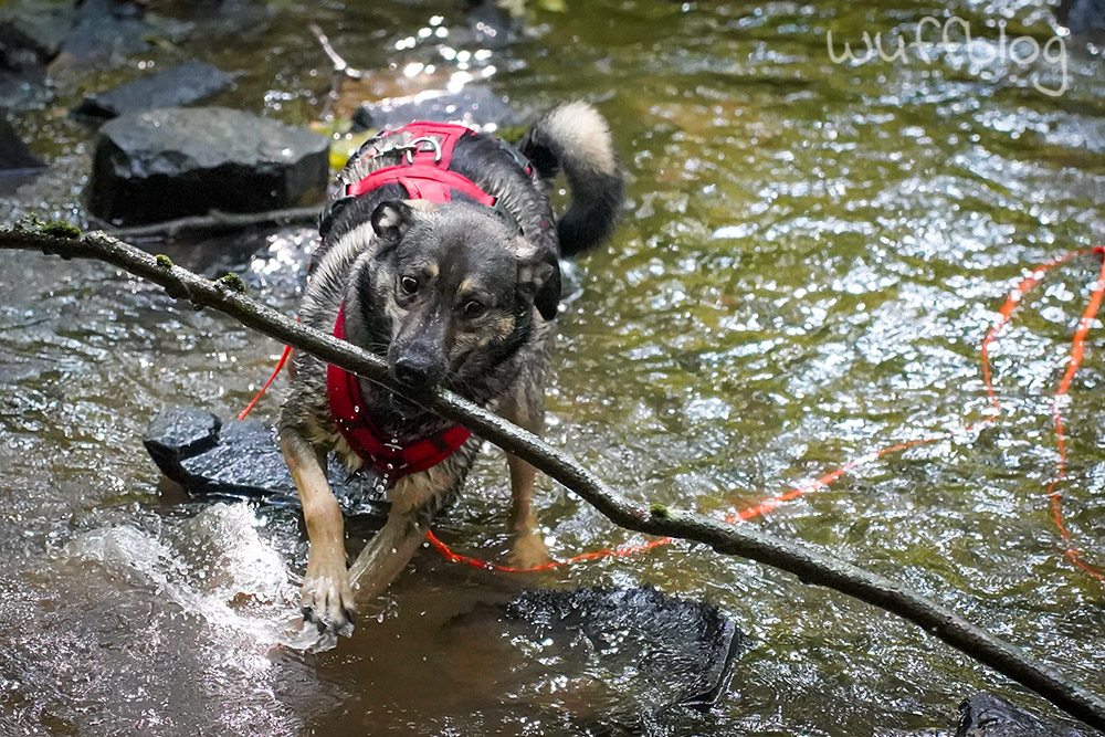
{"label": "dark half-submerged rock below the branch, at bottom centre", "polygon": [[520,651],[525,662],[509,676],[519,688],[530,678],[562,674],[571,693],[558,694],[558,701],[575,705],[586,734],[638,734],[663,722],[666,712],[708,708],[728,687],[736,657],[750,646],[716,607],[651,587],[526,590],[462,615],[453,627],[465,630],[465,638],[505,641]]}

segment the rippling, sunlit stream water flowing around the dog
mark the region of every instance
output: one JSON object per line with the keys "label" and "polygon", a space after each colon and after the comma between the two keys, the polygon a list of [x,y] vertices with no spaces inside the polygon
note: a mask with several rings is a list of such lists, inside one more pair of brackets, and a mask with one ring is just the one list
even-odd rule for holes
{"label": "rippling, sunlit stream water flowing around the dog", "polygon": [[[0,214],[83,219],[91,136],[64,110],[138,62],[211,61],[238,75],[221,102],[309,122],[329,75],[311,21],[378,70],[378,88],[460,73],[524,110],[594,101],[629,201],[561,316],[549,438],[627,496],[718,516],[987,417],[979,346],[1006,294],[1105,236],[1101,59],[1076,40],[1062,63],[1057,41],[1051,60],[1008,54],[1014,38],[1056,38],[1043,2],[568,2],[493,44],[464,38],[459,3],[348,4],[243,3],[114,67],[61,70],[14,118],[51,168]],[[975,61],[901,46],[926,17],[938,42],[953,15]],[[862,62],[864,32],[882,32],[888,61]],[[844,41],[859,61],[840,59]],[[292,312],[309,244],[284,231],[225,260],[256,249],[254,292]],[[213,246],[196,248],[173,256]],[[638,583],[714,602],[755,640],[713,710],[667,714],[646,725],[655,734],[950,734],[956,704],[983,688],[1053,714],[895,617],[678,543],[525,577],[424,549],[326,650],[296,621],[295,515],[188,499],[141,449],[164,407],[235,413],[280,347],[97,263],[3,263],[2,734],[577,734],[604,699],[634,694],[566,687],[556,659],[535,671],[494,631],[449,622],[522,587]],[[1105,588],[1064,557],[1048,497],[1052,396],[1099,266],[1083,256],[1049,274],[992,345],[998,423],[746,524],[901,580],[1105,692]],[[1105,566],[1105,362],[1102,333],[1090,336],[1062,402],[1059,489],[1083,560]],[[257,412],[273,417],[281,393]],[[641,541],[547,480],[537,497],[555,556]],[[501,556],[508,499],[491,450],[439,536]]]}

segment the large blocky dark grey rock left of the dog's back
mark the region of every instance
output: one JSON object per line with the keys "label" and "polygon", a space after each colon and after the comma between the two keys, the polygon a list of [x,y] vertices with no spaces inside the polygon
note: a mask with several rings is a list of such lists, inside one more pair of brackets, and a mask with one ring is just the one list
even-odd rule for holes
{"label": "large blocky dark grey rock left of the dog's back", "polygon": [[116,224],[319,201],[329,141],[306,128],[221,107],[120,115],[99,130],[88,209]]}

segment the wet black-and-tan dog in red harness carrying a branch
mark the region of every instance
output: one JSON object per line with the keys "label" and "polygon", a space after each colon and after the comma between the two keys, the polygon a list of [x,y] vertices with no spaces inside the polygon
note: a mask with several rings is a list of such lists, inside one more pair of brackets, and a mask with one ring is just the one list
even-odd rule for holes
{"label": "wet black-and-tan dog in red harness carrying a branch", "polygon": [[[554,215],[564,172],[571,199]],[[560,302],[561,256],[613,231],[623,173],[610,128],[588,104],[556,107],[517,149],[463,126],[414,123],[367,141],[320,219],[299,307],[311,327],[386,359],[412,391],[448,388],[540,434]],[[309,540],[305,621],[352,630],[457,496],[481,441],[388,389],[299,351],[278,422]],[[376,474],[391,504],[350,568],[326,481],[335,451]],[[535,468],[508,455],[517,564],[547,559],[530,495]]]}

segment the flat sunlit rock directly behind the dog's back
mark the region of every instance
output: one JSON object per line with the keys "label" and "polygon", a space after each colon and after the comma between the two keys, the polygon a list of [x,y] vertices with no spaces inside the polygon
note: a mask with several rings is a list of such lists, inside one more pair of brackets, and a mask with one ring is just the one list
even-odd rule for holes
{"label": "flat sunlit rock directly behind the dog's back", "polygon": [[355,129],[400,128],[412,120],[461,123],[474,128],[522,125],[524,118],[490,87],[466,85],[460,92],[430,91],[365,103],[354,113]]}

